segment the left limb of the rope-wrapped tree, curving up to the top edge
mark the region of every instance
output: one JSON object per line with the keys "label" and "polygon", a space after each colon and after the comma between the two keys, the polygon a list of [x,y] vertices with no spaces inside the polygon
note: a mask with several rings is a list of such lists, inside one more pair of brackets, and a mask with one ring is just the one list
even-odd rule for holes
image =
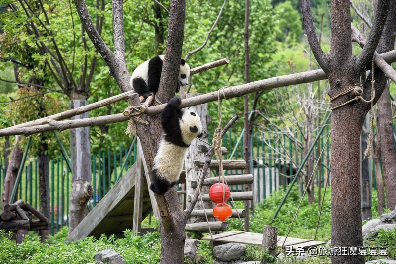
{"label": "left limb of the rope-wrapped tree, curving up to the top edge", "polygon": [[301,10],[302,17],[305,25],[306,35],[308,37],[309,45],[311,46],[312,53],[315,56],[317,62],[320,67],[324,70],[324,72],[329,73],[329,65],[326,60],[326,55],[323,53],[322,48],[320,47],[318,37],[315,32],[315,25],[313,24],[311,7],[309,6],[309,0],[301,0]]}

